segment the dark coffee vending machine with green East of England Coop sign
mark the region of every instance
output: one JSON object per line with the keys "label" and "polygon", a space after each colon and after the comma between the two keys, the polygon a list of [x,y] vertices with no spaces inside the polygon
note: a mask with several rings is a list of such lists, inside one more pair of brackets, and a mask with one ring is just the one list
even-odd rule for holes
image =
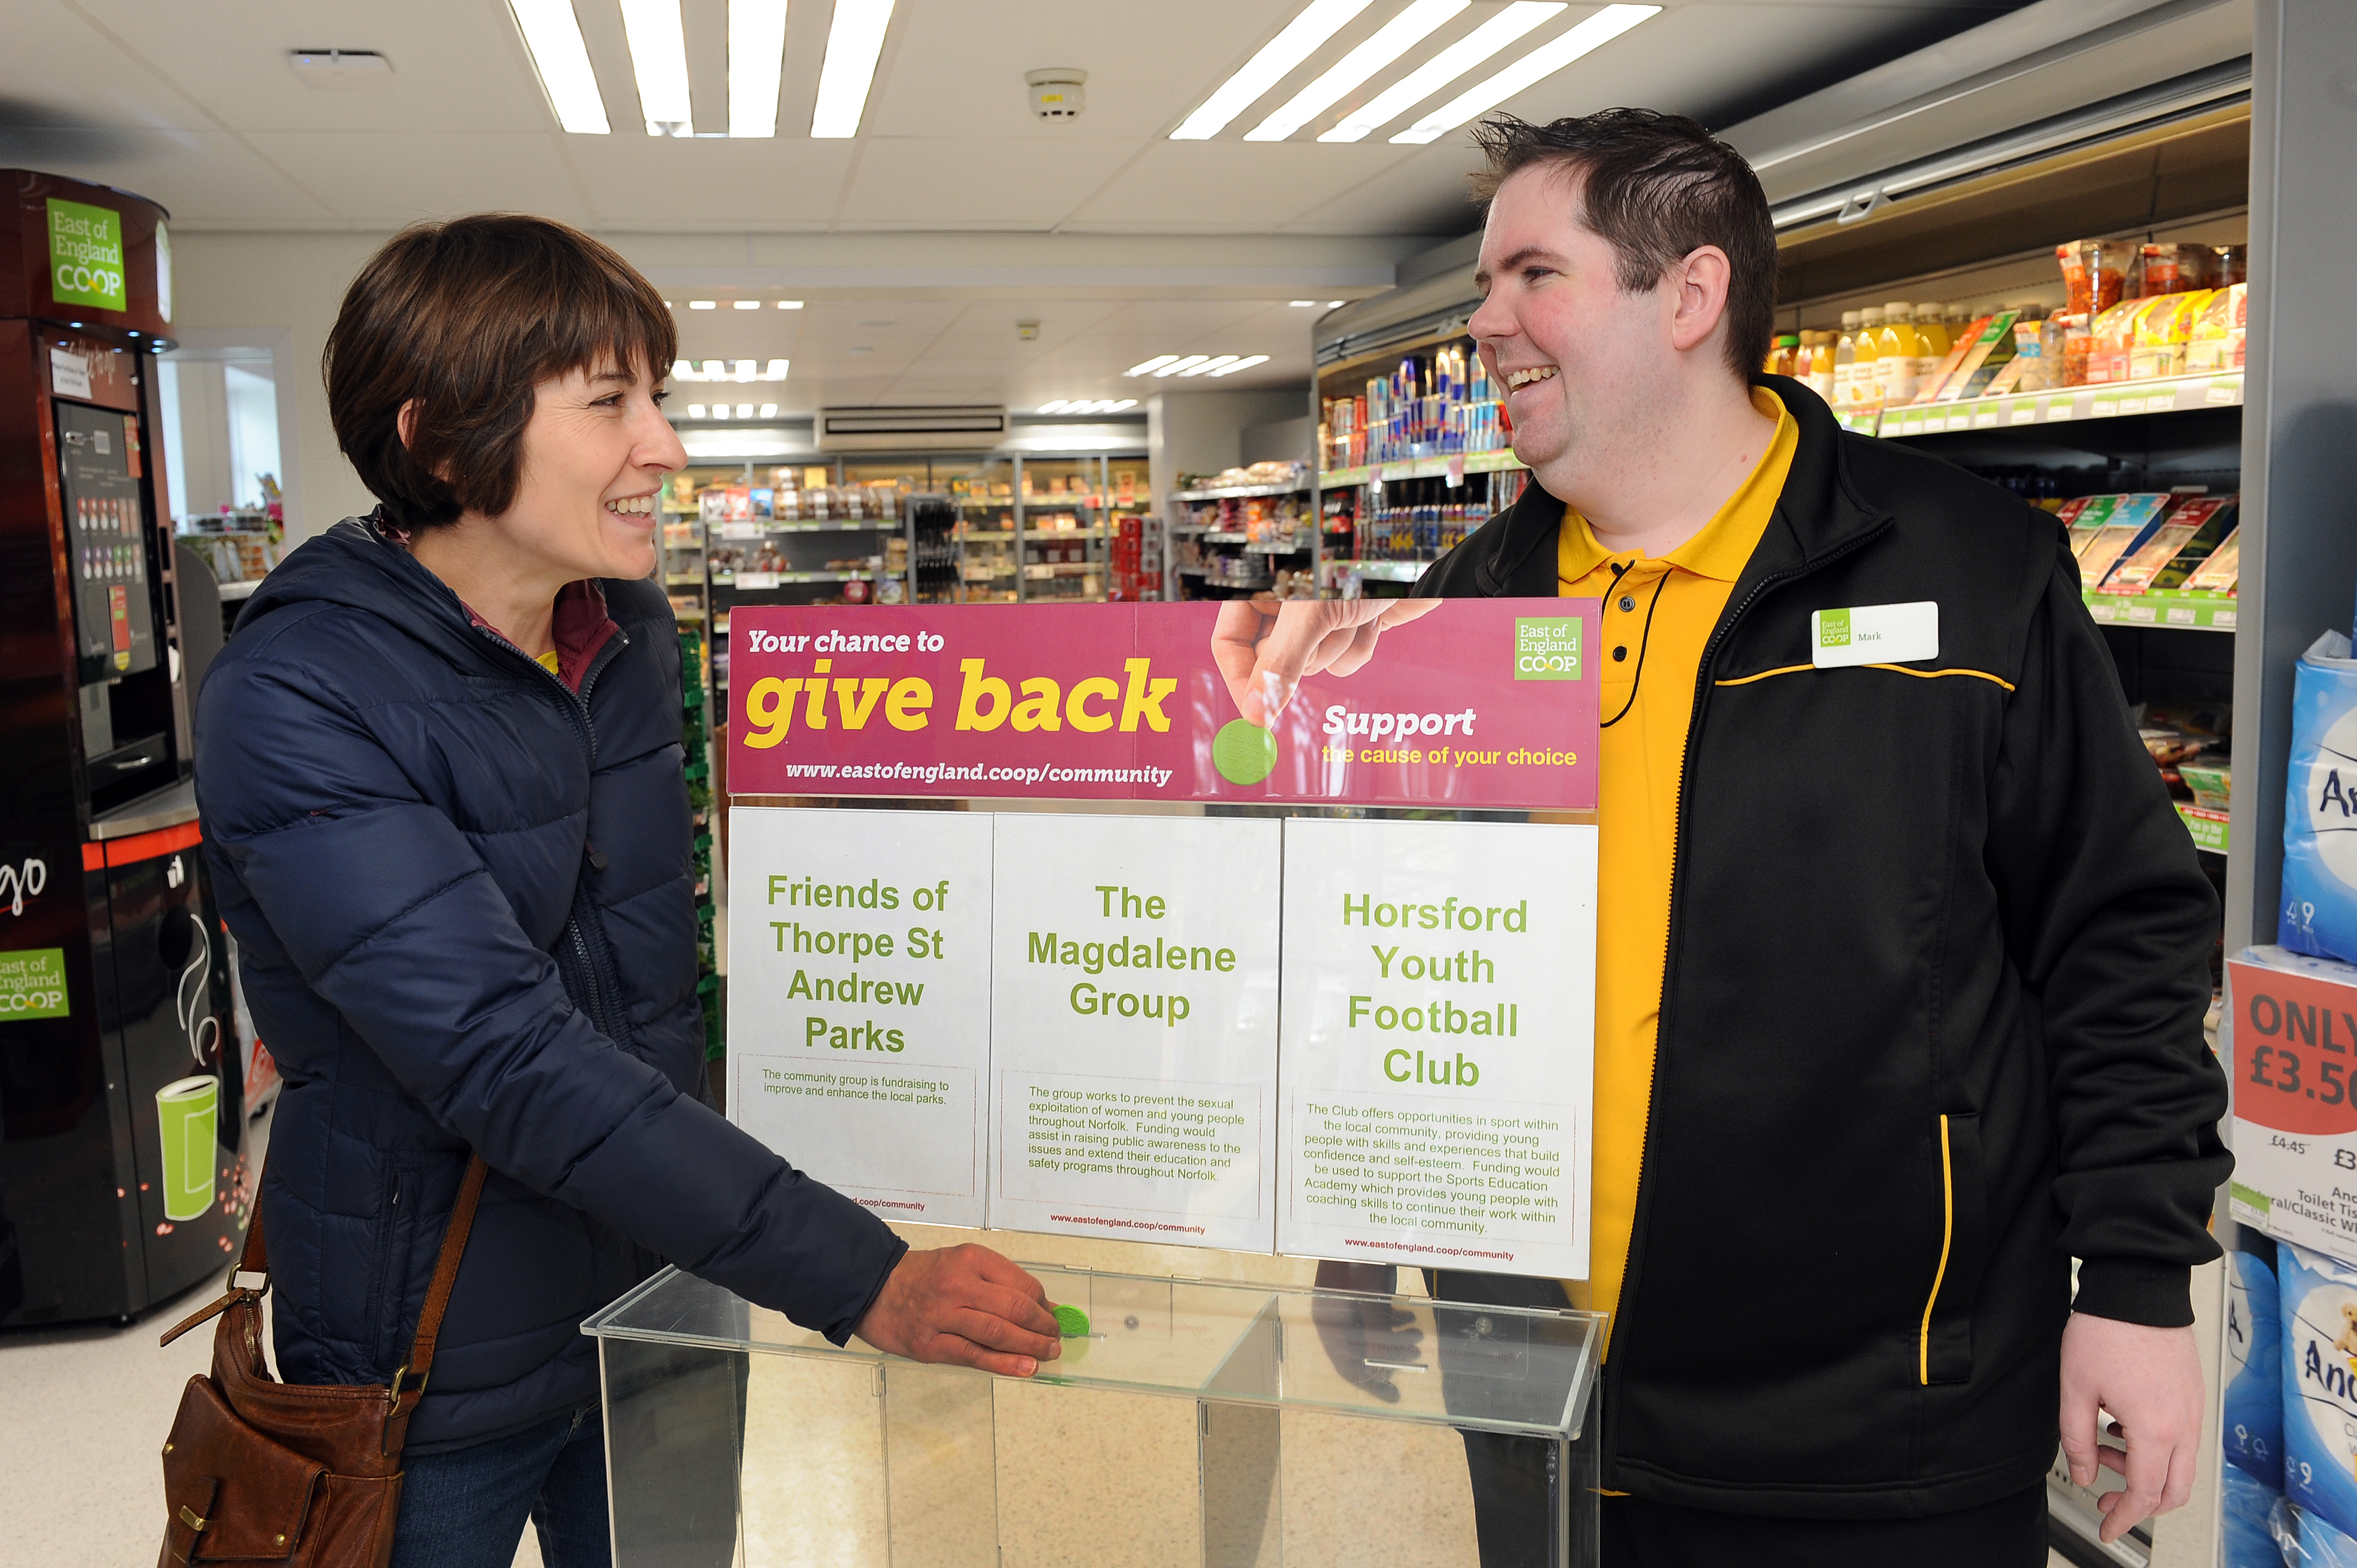
{"label": "dark coffee vending machine with green East of England Coop sign", "polygon": [[191,783],[165,210],[0,170],[0,1325],[130,1320],[252,1210]]}

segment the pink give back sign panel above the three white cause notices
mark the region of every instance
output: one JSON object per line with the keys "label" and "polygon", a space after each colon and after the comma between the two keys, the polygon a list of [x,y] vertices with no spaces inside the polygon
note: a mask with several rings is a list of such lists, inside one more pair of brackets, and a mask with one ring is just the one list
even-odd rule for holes
{"label": "pink give back sign panel above the three white cause notices", "polygon": [[1596,809],[1596,599],[740,606],[733,795]]}

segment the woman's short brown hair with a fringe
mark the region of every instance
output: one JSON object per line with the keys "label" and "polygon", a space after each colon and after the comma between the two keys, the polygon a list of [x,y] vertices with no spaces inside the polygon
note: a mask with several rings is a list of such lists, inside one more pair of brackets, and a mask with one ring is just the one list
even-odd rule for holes
{"label": "woman's short brown hair with a fringe", "polygon": [[495,516],[516,500],[540,382],[608,363],[660,380],[676,351],[662,295],[613,248],[478,212],[403,229],[351,281],[323,358],[328,417],[389,521]]}

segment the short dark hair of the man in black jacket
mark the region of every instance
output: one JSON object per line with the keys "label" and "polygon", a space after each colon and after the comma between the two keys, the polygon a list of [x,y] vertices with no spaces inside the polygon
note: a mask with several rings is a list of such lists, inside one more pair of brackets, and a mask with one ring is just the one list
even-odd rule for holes
{"label": "short dark hair of the man in black jacket", "polygon": [[1775,344],[1775,219],[1758,174],[1699,123],[1655,108],[1605,108],[1532,125],[1494,116],[1473,127],[1490,167],[1487,203],[1511,174],[1551,167],[1579,182],[1579,222],[1612,245],[1619,285],[1640,295],[1702,245],[1728,252],[1728,365],[1751,377]]}

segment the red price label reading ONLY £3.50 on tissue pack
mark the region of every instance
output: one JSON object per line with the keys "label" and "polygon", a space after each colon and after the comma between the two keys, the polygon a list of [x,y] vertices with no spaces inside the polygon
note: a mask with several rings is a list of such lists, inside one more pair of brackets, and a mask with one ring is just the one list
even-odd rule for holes
{"label": "red price label reading ONLY \u00a33.50 on tissue pack", "polygon": [[2357,986],[2227,964],[2234,1115],[2279,1132],[2357,1132]]}

